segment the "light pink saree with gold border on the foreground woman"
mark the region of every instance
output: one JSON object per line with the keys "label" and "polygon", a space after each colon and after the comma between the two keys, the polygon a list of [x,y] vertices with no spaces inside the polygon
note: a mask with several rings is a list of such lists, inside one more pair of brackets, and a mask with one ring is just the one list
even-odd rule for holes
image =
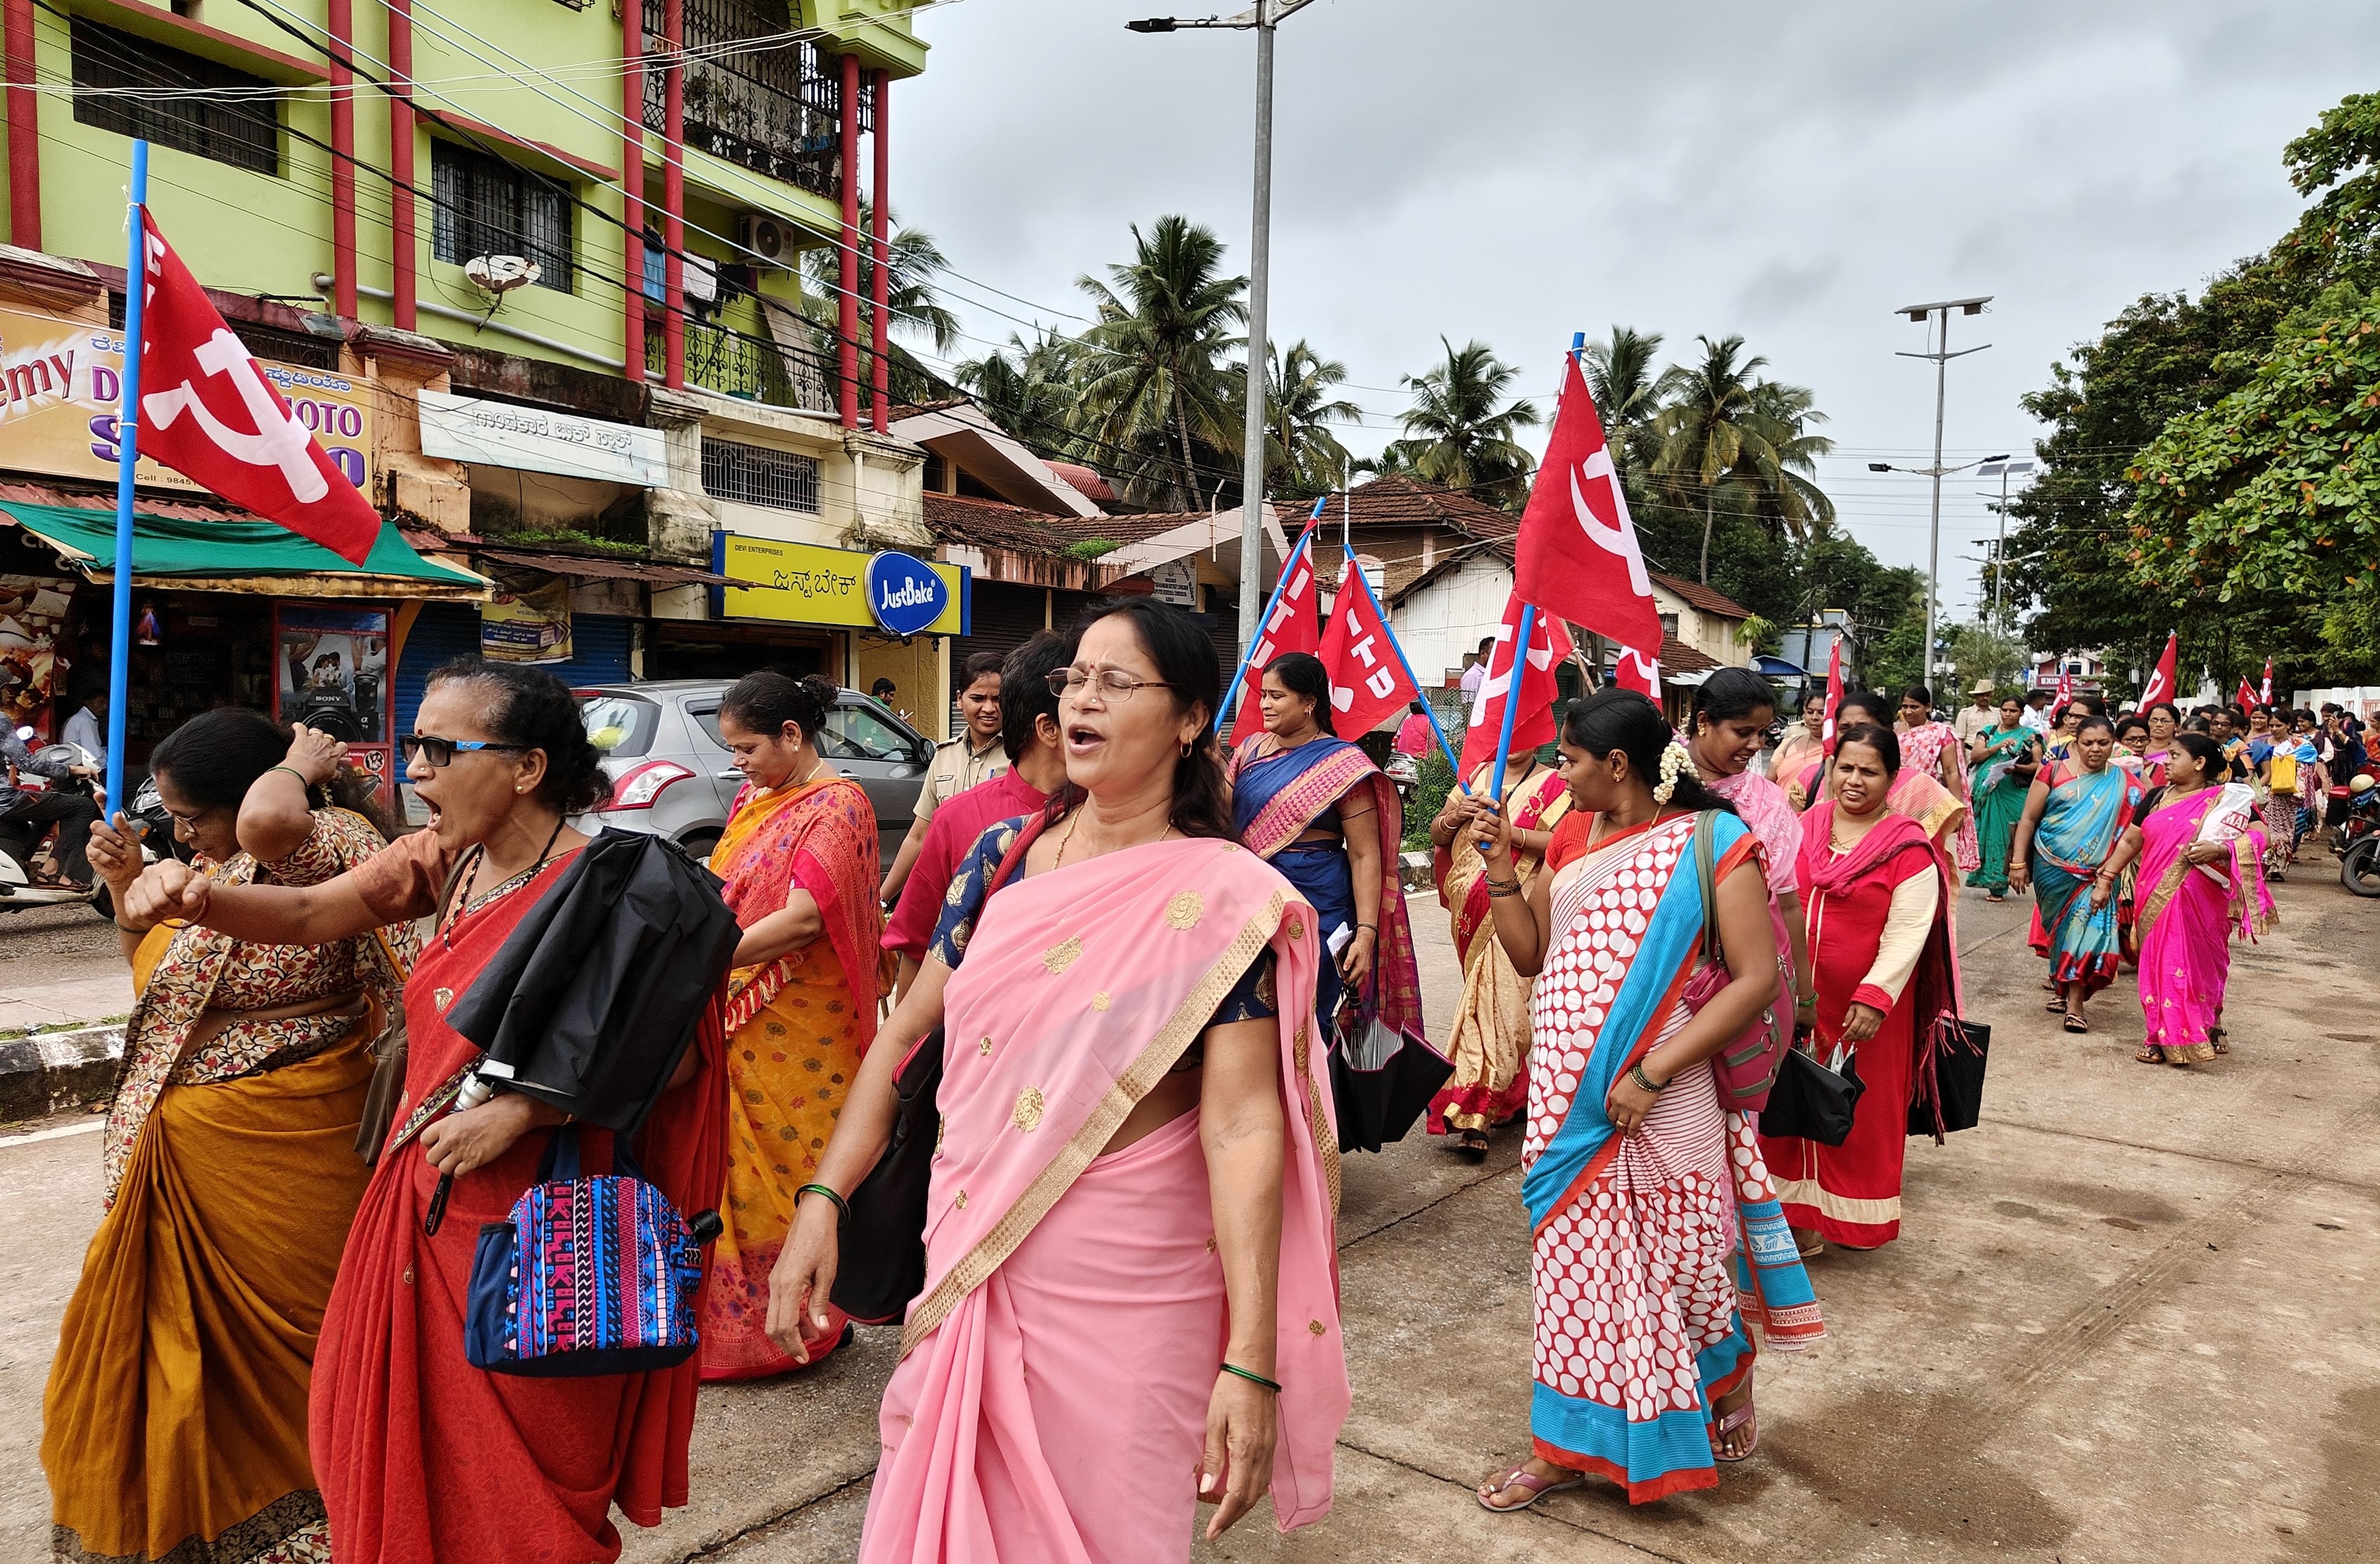
{"label": "light pink saree with gold border on the foreground woman", "polygon": [[1188,1559],[1228,1333],[1197,1109],[1102,1155],[1276,959],[1283,1100],[1273,1509],[1330,1509],[1347,1416],[1338,1140],[1314,909],[1233,843],[1012,881],[945,995],[926,1288],[883,1400],[862,1564]]}

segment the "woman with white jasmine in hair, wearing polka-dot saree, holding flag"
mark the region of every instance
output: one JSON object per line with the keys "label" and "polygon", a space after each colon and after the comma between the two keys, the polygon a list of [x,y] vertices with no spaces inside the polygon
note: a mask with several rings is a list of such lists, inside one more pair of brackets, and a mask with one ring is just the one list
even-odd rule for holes
{"label": "woman with white jasmine in hair, wearing polka-dot saree, holding flag", "polygon": [[[1533,1450],[1480,1483],[1497,1512],[1587,1474],[1633,1504],[1714,1488],[1716,1462],[1759,1440],[1749,1326],[1787,1352],[1823,1335],[1759,1143],[1711,1071],[1778,997],[1761,843],[1633,690],[1568,709],[1561,776],[1576,807],[1526,888],[1495,802],[1476,826],[1497,938],[1537,981],[1521,1147]],[[1733,976],[1697,1007],[1687,983],[1711,962]]]}

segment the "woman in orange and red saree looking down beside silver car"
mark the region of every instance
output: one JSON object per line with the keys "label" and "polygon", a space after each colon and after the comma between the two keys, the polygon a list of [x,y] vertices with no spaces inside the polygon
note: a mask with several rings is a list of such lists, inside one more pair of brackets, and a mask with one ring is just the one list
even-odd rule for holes
{"label": "woman in orange and red saree looking down beside silver car", "polygon": [[[726,1009],[728,1193],[702,1302],[704,1381],[802,1366],[769,1340],[769,1269],[876,1040],[876,809],[812,740],[833,702],[823,678],[783,674],[750,674],[719,702],[719,738],[747,781],[712,874],[745,938]],[[831,1324],[845,1340],[840,1312]]]}

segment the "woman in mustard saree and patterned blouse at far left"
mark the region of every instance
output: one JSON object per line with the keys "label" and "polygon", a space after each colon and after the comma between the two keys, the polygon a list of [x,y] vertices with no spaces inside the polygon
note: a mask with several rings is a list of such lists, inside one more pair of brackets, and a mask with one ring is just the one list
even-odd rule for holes
{"label": "woman in mustard saree and patterned blouse at far left", "polygon": [[[317,728],[207,712],[150,771],[195,855],[186,874],[212,883],[319,886],[388,845],[374,786]],[[319,1557],[307,1378],[371,1176],[371,1043],[416,943],[236,940],[136,912],[140,843],[121,814],[93,828],[90,864],[136,1000],[100,1138],[105,1216],[43,1397],[62,1554],[226,1557],[207,1550],[238,1533],[243,1559]]]}

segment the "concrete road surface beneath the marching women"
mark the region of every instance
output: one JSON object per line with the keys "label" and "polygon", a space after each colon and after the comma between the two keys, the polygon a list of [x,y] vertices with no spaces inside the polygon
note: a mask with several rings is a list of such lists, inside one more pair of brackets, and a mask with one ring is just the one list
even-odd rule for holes
{"label": "concrete road surface beneath the marching women", "polygon": [[[1528,1247],[1514,1143],[1347,1164],[1354,1414],[1338,1509],[1264,1512],[1200,1559],[2373,1557],[2380,1535],[2380,905],[2320,871],[2235,964],[2230,1059],[2130,1062],[2044,1016],[2023,912],[1961,905],[1971,1009],[1994,1026],[1985,1124],[1909,1150],[1902,1243],[1816,1264],[1830,1340],[1761,1366],[1761,1450],[1716,1493],[1609,1488],[1490,1516],[1468,1485],[1526,1450]],[[1452,955],[1414,902],[1426,990]],[[7,962],[0,947],[0,962]],[[14,974],[0,974],[0,981]],[[1433,1007],[1433,1028],[1442,1016]],[[71,1128],[71,1126],[69,1126]],[[0,1143],[0,1557],[38,1557],[40,1378],[95,1224],[98,1143]],[[695,1504],[626,1559],[816,1564],[857,1547],[892,1333],[816,1376],[707,1390]]]}

